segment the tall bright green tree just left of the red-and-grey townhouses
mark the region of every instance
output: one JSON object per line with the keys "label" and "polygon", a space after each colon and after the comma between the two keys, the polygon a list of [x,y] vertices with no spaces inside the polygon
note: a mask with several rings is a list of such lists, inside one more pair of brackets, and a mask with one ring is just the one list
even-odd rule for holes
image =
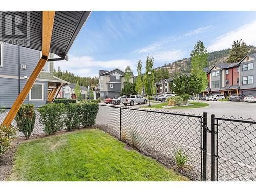
{"label": "tall bright green tree just left of the red-and-grey townhouses", "polygon": [[194,46],[194,50],[190,53],[190,56],[192,65],[191,74],[195,75],[197,79],[200,79],[202,81],[202,83],[200,83],[202,86],[201,90],[199,91],[200,93],[208,85],[207,75],[203,70],[208,63],[208,52],[202,41],[197,41]]}

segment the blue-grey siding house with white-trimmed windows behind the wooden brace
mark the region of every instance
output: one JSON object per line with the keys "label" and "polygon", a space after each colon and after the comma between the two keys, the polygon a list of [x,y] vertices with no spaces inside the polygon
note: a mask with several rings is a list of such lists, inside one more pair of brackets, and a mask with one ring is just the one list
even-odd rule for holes
{"label": "blue-grey siding house with white-trimmed windows behind the wooden brace", "polygon": [[[12,106],[40,57],[40,51],[0,43],[0,107]],[[53,58],[53,54],[50,54],[50,58]],[[68,82],[53,76],[53,62],[47,62],[24,104],[41,106],[51,102],[48,95],[65,84]]]}

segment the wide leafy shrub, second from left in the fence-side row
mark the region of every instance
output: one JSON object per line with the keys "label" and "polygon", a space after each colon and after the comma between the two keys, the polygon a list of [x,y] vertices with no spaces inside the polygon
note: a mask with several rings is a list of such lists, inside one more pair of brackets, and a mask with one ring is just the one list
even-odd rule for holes
{"label": "wide leafy shrub, second from left in the fence-side row", "polygon": [[46,104],[38,109],[40,112],[40,123],[44,125],[44,132],[47,135],[59,131],[63,127],[65,104]]}

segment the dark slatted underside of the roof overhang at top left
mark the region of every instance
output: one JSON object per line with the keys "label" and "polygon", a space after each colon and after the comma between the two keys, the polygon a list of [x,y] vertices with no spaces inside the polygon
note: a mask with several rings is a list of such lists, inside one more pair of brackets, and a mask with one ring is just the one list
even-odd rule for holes
{"label": "dark slatted underside of the roof overhang at top left", "polygon": [[[2,16],[19,16],[21,21],[29,22],[29,37],[27,37],[29,44],[20,45],[15,40],[12,44],[42,50],[42,11],[1,11],[0,13]],[[91,11],[55,11],[50,53],[65,57],[90,13]],[[6,19],[5,26],[8,26],[5,29],[6,33],[12,34],[15,25],[11,19]],[[27,33],[27,28],[24,26],[22,25],[20,30]],[[16,39],[16,36],[10,35],[10,39]]]}

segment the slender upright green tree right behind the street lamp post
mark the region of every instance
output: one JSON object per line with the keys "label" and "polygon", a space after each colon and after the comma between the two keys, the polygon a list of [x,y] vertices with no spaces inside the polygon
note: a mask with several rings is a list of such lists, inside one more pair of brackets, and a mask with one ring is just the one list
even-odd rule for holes
{"label": "slender upright green tree right behind the street lamp post", "polygon": [[[143,76],[143,82],[144,82],[144,88],[145,88],[145,92],[147,95],[150,94],[150,90],[151,90],[151,95],[154,92],[154,84],[155,84],[155,80],[154,80],[154,73],[155,70],[153,69],[153,64],[154,64],[154,58],[147,56],[146,59],[146,73]],[[151,72],[151,77],[148,74],[148,72]]]}

